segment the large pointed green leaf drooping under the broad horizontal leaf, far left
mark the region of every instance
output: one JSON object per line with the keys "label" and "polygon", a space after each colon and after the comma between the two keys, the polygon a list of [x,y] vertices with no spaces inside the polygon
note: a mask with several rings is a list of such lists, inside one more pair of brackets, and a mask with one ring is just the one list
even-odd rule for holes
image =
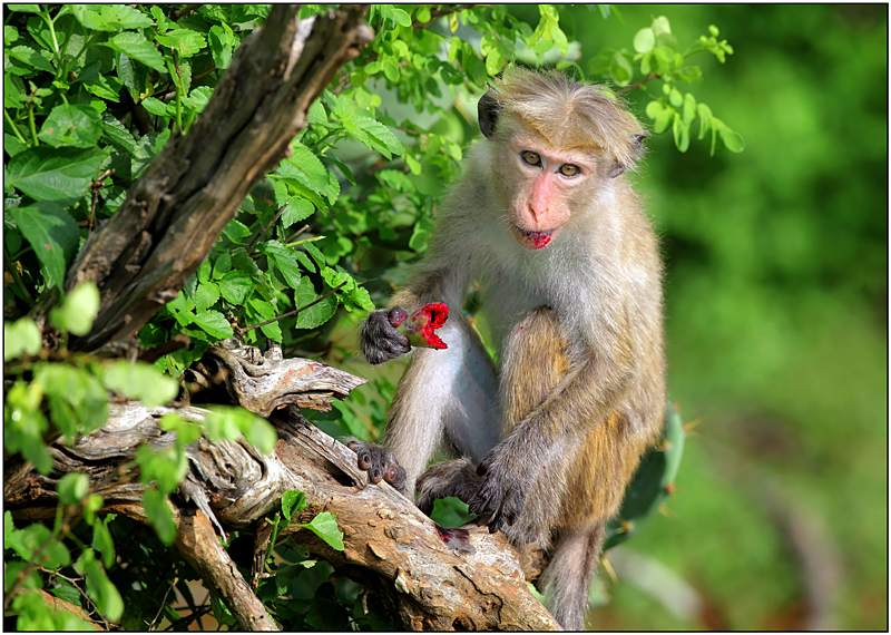
{"label": "large pointed green leaf drooping under the broad horizontal leaf, far left", "polygon": [[61,287],[67,265],[74,258],[80,240],[75,219],[51,201],[16,207],[10,209],[10,214],[43,265],[47,283]]}

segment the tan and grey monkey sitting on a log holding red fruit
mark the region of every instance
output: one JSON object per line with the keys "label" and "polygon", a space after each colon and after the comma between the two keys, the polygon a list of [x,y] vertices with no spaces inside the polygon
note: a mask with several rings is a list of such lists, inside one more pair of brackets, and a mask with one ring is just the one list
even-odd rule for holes
{"label": "tan and grey monkey sitting on a log holding red fruit", "polygon": [[[646,131],[617,95],[559,71],[511,67],[478,111],[483,138],[419,271],[360,328],[370,363],[410,363],[383,447],[351,447],[423,511],[457,496],[490,531],[547,549],[549,609],[580,631],[606,522],[666,403],[658,242],[627,178]],[[472,283],[500,368],[462,315]],[[452,310],[446,350],[412,350],[391,324],[429,302]],[[457,458],[424,471],[439,447]]]}

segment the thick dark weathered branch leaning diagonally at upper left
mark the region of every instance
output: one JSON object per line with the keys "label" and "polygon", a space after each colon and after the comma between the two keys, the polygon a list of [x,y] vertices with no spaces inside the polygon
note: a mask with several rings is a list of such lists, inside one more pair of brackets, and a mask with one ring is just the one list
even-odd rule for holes
{"label": "thick dark weathered branch leaning diagonally at upper left", "polygon": [[125,340],[176,297],[251,188],[290,150],[313,100],[373,38],[365,10],[300,21],[296,6],[272,8],[198,120],[170,138],[68,271],[66,291],[92,281],[101,292],[92,330],[71,338],[70,349]]}

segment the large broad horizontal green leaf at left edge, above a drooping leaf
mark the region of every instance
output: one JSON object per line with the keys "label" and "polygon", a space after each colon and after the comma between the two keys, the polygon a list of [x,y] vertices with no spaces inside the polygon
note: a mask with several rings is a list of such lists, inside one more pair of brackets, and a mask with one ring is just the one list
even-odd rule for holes
{"label": "large broad horizontal green leaf at left edge, above a drooping leaf", "polygon": [[9,162],[6,185],[36,201],[74,202],[87,194],[106,159],[100,148],[31,148]]}

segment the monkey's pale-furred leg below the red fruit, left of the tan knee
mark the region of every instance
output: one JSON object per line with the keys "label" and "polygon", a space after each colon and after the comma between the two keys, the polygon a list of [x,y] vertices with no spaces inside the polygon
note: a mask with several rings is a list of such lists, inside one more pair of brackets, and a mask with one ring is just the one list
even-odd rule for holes
{"label": "monkey's pale-furred leg below the red fruit, left of the tan knee", "polygon": [[446,350],[419,349],[396,388],[384,446],[405,469],[409,496],[443,439],[471,460],[498,442],[498,383],[479,336],[456,312],[440,330]]}

